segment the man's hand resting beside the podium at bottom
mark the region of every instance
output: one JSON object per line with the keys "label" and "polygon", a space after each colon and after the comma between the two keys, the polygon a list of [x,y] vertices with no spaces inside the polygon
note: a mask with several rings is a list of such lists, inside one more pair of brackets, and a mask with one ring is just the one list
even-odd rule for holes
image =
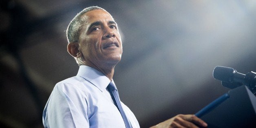
{"label": "man's hand resting beside the podium at bottom", "polygon": [[198,128],[207,127],[207,124],[195,115],[179,114],[150,128]]}

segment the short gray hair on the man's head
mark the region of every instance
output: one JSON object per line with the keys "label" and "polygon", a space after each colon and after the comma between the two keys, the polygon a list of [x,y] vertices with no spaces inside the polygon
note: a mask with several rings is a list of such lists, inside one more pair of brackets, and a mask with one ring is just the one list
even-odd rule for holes
{"label": "short gray hair on the man's head", "polygon": [[[82,10],[81,12],[77,13],[75,18],[73,18],[73,20],[71,20],[71,22],[68,24],[68,28],[66,30],[68,43],[78,42],[79,30],[80,30],[80,27],[82,26],[82,24],[84,23],[84,21],[81,18],[81,15],[83,15],[84,13],[87,13],[88,11],[93,11],[93,10],[97,10],[97,9],[102,9],[102,8],[97,7],[97,6],[87,7],[84,10]],[[102,9],[102,10],[106,11],[105,9]]]}

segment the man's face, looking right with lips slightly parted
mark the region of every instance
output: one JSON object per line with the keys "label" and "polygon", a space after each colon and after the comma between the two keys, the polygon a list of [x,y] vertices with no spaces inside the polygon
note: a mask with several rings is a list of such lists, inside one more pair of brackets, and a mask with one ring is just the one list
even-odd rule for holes
{"label": "man's face, looking right with lips slightly parted", "polygon": [[[79,50],[86,64],[108,66],[121,60],[122,42],[112,16],[101,9],[88,11],[79,35]],[[97,67],[99,68],[99,67]]]}

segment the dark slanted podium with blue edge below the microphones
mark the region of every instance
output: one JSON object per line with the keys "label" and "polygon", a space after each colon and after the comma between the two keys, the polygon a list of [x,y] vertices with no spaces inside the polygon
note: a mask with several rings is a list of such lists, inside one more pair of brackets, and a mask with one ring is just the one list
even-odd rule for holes
{"label": "dark slanted podium with blue edge below the microphones", "polygon": [[256,97],[239,86],[214,100],[195,114],[207,128],[256,128]]}

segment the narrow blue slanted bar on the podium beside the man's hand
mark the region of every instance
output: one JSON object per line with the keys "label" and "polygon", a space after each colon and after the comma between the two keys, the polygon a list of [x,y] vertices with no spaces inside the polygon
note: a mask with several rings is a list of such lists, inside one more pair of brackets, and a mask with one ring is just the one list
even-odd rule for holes
{"label": "narrow blue slanted bar on the podium beside the man's hand", "polygon": [[207,106],[205,106],[203,109],[199,110],[195,115],[197,117],[202,117],[203,115],[205,115],[206,113],[210,112],[212,109],[214,109],[216,106],[218,106],[219,104],[221,104],[222,102],[224,102],[226,99],[228,99],[230,97],[230,95],[228,95],[227,93],[225,93],[224,95],[222,95],[221,97],[218,97],[217,99],[215,99],[213,102],[211,102],[210,104],[208,104]]}

